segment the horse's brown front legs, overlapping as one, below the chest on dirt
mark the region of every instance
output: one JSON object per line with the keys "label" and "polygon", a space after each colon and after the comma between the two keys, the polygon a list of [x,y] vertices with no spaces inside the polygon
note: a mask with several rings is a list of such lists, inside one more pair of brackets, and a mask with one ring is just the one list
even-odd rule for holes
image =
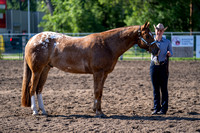
{"label": "horse's brown front legs, overlapping as one, below the chest on dirt", "polygon": [[104,82],[107,78],[107,74],[105,74],[103,71],[96,72],[93,74],[94,77],[94,107],[93,110],[96,113],[96,116],[98,117],[104,117],[101,110],[101,98],[103,94],[103,86]]}

